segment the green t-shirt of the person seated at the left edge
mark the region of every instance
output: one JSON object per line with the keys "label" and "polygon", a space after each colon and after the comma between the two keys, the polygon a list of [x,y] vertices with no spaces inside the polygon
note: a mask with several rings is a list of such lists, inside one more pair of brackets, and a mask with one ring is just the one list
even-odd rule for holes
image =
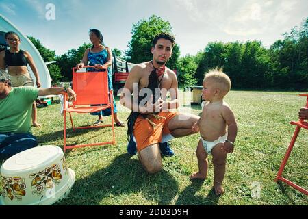
{"label": "green t-shirt of the person seated at the left edge", "polygon": [[32,103],[39,88],[12,88],[8,96],[0,99],[0,133],[31,133]]}

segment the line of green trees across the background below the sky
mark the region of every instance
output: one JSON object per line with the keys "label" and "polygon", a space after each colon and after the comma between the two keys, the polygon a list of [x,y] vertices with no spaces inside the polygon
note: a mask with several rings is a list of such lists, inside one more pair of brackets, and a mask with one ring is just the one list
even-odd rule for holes
{"label": "line of green trees across the background below the sky", "polygon": [[[158,16],[151,16],[134,23],[132,38],[125,54],[112,51],[128,62],[140,63],[152,59],[152,39],[159,32],[172,34],[172,25]],[[71,69],[81,59],[91,44],[84,43],[78,49],[70,49],[57,56],[39,40],[29,36],[48,66],[53,82],[71,81]],[[175,38],[177,40],[177,38]],[[308,18],[300,27],[283,34],[269,49],[261,41],[209,42],[196,55],[180,57],[179,44],[175,44],[168,68],[177,70],[180,87],[201,85],[205,72],[216,66],[223,67],[229,75],[232,87],[237,89],[307,90],[308,88]]]}

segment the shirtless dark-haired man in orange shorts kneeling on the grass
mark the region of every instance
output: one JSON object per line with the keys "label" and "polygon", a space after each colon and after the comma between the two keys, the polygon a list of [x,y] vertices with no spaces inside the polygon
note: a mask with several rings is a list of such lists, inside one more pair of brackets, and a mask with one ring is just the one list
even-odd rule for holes
{"label": "shirtless dark-haired man in orange shorts kneeling on the grass", "polygon": [[[159,142],[162,142],[162,135],[169,136],[170,140],[173,137],[177,138],[195,133],[192,131],[192,125],[199,119],[198,116],[192,114],[170,111],[179,107],[177,76],[172,70],[164,66],[172,55],[174,44],[175,40],[169,34],[162,33],[155,36],[151,49],[153,60],[133,66],[120,98],[122,105],[133,112],[140,113],[134,123],[133,136],[136,138],[140,162],[146,172],[149,173],[162,170],[162,157],[159,151]],[[158,77],[159,88],[162,93],[161,98],[153,103],[153,94],[146,105],[139,105],[138,101],[133,101],[131,94],[138,96],[139,91],[149,85],[149,76],[155,68],[164,69],[164,73]],[[170,93],[170,101],[166,100],[167,92]],[[149,115],[151,112],[159,112],[157,115],[160,118],[154,116],[144,118],[142,116],[142,114]],[[151,123],[155,125],[151,125]]]}

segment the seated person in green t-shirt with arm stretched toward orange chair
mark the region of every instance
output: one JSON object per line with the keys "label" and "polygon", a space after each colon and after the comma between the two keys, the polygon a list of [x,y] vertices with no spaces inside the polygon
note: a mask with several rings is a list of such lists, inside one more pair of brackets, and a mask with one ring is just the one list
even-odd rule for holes
{"label": "seated person in green t-shirt with arm stretched toward orange chair", "polygon": [[70,88],[12,88],[10,75],[0,70],[0,157],[8,158],[38,145],[31,134],[32,103],[38,96],[61,92],[75,101],[76,94]]}

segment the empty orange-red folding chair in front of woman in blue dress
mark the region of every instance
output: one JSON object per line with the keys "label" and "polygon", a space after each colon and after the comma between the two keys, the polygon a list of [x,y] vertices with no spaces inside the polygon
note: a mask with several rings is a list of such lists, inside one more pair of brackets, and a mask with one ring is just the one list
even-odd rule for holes
{"label": "empty orange-red folding chair in front of woman in blue dress", "polygon": [[[84,66],[93,67],[93,66]],[[97,146],[104,144],[115,144],[114,136],[114,99],[113,91],[108,92],[108,70],[98,72],[76,72],[77,68],[73,68],[73,90],[76,93],[76,101],[72,105],[66,104],[67,94],[64,94],[64,152],[66,149],[81,148],[85,146]],[[98,105],[98,106],[92,106]],[[112,123],[98,126],[85,126],[75,127],[73,124],[72,112],[77,113],[90,113],[99,112],[110,108]],[[75,129],[89,129],[112,127],[112,141],[99,142],[94,144],[81,144],[66,146],[66,112],[70,114],[70,123],[72,124],[73,131]]]}

